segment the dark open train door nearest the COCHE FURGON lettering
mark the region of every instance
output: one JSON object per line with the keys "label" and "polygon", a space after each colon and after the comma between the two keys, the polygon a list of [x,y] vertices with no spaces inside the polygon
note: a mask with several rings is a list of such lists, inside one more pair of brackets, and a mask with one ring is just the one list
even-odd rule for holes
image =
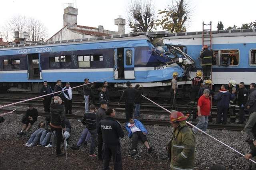
{"label": "dark open train door nearest the COCHE FURGON lettering", "polygon": [[40,74],[40,54],[28,54],[28,79],[42,79]]}

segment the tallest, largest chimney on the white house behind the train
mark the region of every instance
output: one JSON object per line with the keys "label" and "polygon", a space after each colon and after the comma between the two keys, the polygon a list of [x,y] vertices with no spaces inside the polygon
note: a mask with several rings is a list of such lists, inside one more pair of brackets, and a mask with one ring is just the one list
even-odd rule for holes
{"label": "tallest, largest chimney on the white house behind the train", "polygon": [[78,15],[78,9],[74,8],[74,4],[68,4],[67,8],[64,8],[63,14],[63,26],[76,26],[77,19],[76,16]]}

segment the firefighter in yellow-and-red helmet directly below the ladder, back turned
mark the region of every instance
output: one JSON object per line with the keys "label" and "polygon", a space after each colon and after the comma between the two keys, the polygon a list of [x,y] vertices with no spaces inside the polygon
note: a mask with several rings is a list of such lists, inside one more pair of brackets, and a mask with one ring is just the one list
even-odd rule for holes
{"label": "firefighter in yellow-and-red helmet directly below the ladder, back turned", "polygon": [[201,70],[198,70],[196,71],[196,77],[194,77],[192,79],[192,89],[191,89],[191,101],[190,103],[195,103],[195,99],[196,99],[196,96],[199,92],[199,89],[200,87],[202,87],[202,84],[203,84],[203,80],[201,79],[202,77],[202,71]]}

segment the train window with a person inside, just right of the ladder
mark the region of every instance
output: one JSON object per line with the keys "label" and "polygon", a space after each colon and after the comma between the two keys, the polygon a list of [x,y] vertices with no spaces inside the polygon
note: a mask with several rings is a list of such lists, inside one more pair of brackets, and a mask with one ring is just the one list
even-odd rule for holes
{"label": "train window with a person inside, just right of the ladder", "polygon": [[237,49],[220,50],[220,65],[238,65],[239,51]]}

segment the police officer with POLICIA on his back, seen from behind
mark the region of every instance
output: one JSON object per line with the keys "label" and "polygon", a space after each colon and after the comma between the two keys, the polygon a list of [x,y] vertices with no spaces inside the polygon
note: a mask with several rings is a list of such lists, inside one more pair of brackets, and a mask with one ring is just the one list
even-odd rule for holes
{"label": "police officer with POLICIA on his back, seen from behind", "polygon": [[124,137],[121,124],[114,119],[116,112],[112,108],[106,110],[106,118],[98,125],[98,134],[103,138],[103,170],[109,170],[111,156],[113,158],[114,170],[122,169],[122,156],[119,138]]}

